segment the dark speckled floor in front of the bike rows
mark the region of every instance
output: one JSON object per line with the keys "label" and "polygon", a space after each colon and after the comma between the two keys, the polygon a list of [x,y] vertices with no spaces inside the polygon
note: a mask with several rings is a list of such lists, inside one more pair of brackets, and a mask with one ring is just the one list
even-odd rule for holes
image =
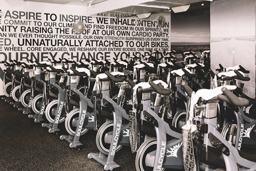
{"label": "dark speckled floor in front of the bike rows", "polygon": [[[90,152],[98,152],[95,131],[81,137],[84,147],[80,150],[70,149],[59,139],[61,134],[66,133],[48,133],[41,124],[0,100],[0,171],[104,171],[102,165],[87,158]],[[128,147],[123,147],[115,160],[122,171],[135,170],[135,154]]]}

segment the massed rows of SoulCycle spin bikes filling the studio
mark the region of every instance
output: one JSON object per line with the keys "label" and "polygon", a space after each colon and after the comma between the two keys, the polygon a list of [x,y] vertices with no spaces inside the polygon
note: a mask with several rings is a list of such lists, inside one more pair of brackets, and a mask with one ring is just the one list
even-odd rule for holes
{"label": "massed rows of SoulCycle spin bikes filling the studio", "polygon": [[[152,52],[128,59],[76,62],[3,61],[3,98],[49,133],[64,123],[61,135],[70,148],[96,130],[99,153],[88,154],[105,170],[122,146],[136,154],[137,171],[254,171],[256,157],[241,147],[256,144],[254,99],[243,85],[242,66],[209,69],[209,51],[201,58],[184,52]],[[159,58],[160,56],[160,58]],[[198,61],[200,61],[198,63]]]}

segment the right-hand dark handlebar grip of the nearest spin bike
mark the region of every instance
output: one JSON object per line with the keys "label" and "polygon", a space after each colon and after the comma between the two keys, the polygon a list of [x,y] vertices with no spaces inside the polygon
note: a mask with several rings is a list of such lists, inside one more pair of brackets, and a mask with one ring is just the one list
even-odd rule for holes
{"label": "right-hand dark handlebar grip of the nearest spin bike", "polygon": [[227,96],[227,98],[235,105],[238,107],[243,107],[247,106],[249,104],[249,100],[244,99],[244,98],[239,98],[235,94],[233,94],[230,90],[228,90],[226,87],[223,87],[221,89],[223,94]]}

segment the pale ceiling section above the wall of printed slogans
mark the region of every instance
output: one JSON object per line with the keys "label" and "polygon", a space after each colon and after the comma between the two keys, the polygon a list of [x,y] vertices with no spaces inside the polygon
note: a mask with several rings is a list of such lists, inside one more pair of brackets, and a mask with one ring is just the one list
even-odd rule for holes
{"label": "pale ceiling section above the wall of printed slogans", "polygon": [[[87,15],[127,17],[134,14],[166,13],[186,11],[189,4],[203,0],[24,0],[41,3],[85,6]],[[205,0],[212,1],[212,0]],[[209,3],[209,2],[207,2]],[[113,5],[115,4],[115,5]]]}

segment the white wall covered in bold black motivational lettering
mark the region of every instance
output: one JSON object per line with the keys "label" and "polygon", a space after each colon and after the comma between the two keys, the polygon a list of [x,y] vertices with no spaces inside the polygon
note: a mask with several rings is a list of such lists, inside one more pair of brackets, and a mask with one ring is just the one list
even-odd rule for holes
{"label": "white wall covered in bold black motivational lettering", "polygon": [[[21,0],[2,0],[0,10],[1,61],[45,61],[48,58],[112,60],[170,48],[171,23],[170,15],[166,14],[151,14],[145,20],[136,16],[102,18],[86,16],[87,8],[82,6]],[[160,15],[166,19],[163,28],[157,24]],[[76,35],[72,25],[79,20],[83,20],[87,28]],[[3,64],[0,67],[3,69]],[[0,95],[3,94],[2,84],[0,80]]]}

